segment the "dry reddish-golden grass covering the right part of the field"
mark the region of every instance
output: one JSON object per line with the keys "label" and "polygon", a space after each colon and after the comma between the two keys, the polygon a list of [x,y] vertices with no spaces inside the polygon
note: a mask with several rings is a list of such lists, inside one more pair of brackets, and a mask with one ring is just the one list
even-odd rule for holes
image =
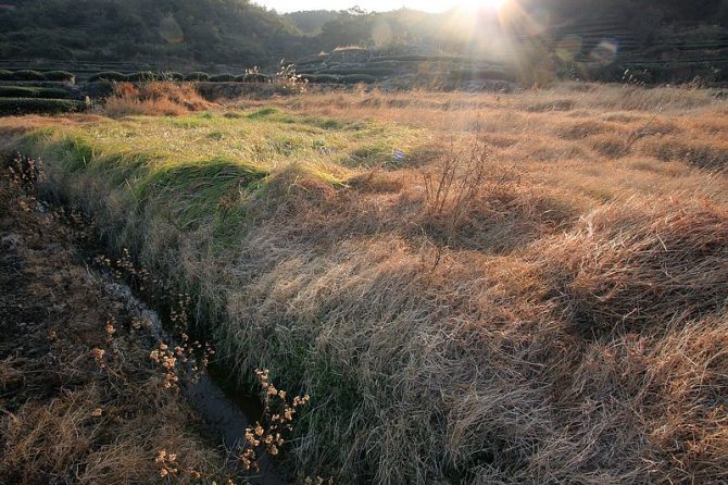
{"label": "dry reddish-golden grass covering the right part of the field", "polygon": [[250,235],[267,249],[236,262],[229,348],[273,364],[314,341],[362,398],[301,460],[341,434],[344,476],[378,483],[728,477],[724,103],[620,87],[283,103],[488,149],[485,175],[459,158],[444,203],[423,170],[369,173]]}

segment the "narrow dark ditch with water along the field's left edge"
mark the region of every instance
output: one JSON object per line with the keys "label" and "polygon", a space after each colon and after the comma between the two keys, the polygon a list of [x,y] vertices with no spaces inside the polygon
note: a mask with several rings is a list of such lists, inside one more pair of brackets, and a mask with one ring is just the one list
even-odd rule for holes
{"label": "narrow dark ditch with water along the field's left edge", "polygon": [[[3,173],[0,174],[0,177],[5,177],[13,159],[2,158],[4,160],[0,163],[0,169]],[[14,160],[25,159],[17,156]],[[239,385],[226,371],[224,357],[213,357],[214,351],[211,350],[205,338],[204,322],[190,318],[189,297],[174,293],[172,285],[166,284],[162,278],[152,278],[148,272],[131,262],[133,256],[127,250],[124,250],[122,254],[114,254],[113,258],[108,256],[106,248],[111,245],[108,244],[106,236],[101,235],[98,227],[95,226],[93,215],[84,214],[78,208],[73,207],[63,198],[58,187],[52,185],[52,182],[41,181],[41,165],[23,169],[29,173],[20,171],[20,184],[25,185],[23,191],[29,195],[27,200],[30,203],[27,203],[27,200],[21,200],[20,197],[17,203],[23,204],[24,211],[34,213],[36,217],[42,217],[46,224],[60,225],[62,226],[61,232],[72,235],[67,239],[70,247],[62,248],[62,244],[49,240],[46,250],[66,250],[73,253],[74,258],[71,263],[77,266],[75,269],[77,273],[84,274],[84,284],[93,286],[108,298],[105,301],[99,301],[98,304],[109,306],[111,301],[112,307],[122,309],[121,311],[129,315],[133,322],[139,322],[135,326],[135,329],[138,331],[136,332],[136,344],[142,347],[142,351],[153,355],[160,348],[189,349],[189,352],[184,356],[179,380],[171,387],[178,389],[205,423],[204,434],[208,442],[217,443],[218,449],[224,449],[228,470],[241,477],[242,483],[258,485],[293,483],[290,478],[292,471],[284,470],[279,460],[268,455],[258,456],[259,470],[256,471],[246,471],[240,467],[240,457],[247,446],[246,432],[255,426],[259,421],[262,422],[266,411],[260,394],[253,390],[253,386]],[[17,176],[18,171],[14,173]],[[4,184],[7,181],[0,182]],[[3,204],[15,203],[13,200],[1,202]],[[5,215],[3,212],[0,211],[0,215]],[[7,220],[5,217],[3,222],[7,223]],[[34,219],[28,217],[18,221],[17,224],[24,225],[23,229],[26,232],[37,233],[35,244],[42,245],[43,233],[48,231],[48,227],[33,227],[33,221]],[[18,246],[24,242],[23,237],[15,232],[7,232],[5,228],[7,224],[0,227],[3,229],[0,232],[3,251],[4,246]],[[21,276],[17,270],[13,271],[18,277]],[[58,271],[65,270],[58,268]],[[36,283],[32,282],[32,284]],[[12,279],[10,284],[13,284]],[[32,303],[18,304],[16,312],[26,312]],[[0,308],[2,326],[5,327],[5,324],[10,324],[13,320],[12,310],[7,311],[8,307],[4,304],[0,307],[2,307]],[[20,318],[29,316],[21,314]],[[21,324],[21,331],[24,326],[25,324]],[[5,327],[4,332],[12,331]],[[0,349],[4,350],[4,347],[0,346]],[[183,360],[181,353],[179,357],[179,360]],[[177,380],[177,377],[174,378]],[[175,390],[170,389],[168,391],[174,393]]]}

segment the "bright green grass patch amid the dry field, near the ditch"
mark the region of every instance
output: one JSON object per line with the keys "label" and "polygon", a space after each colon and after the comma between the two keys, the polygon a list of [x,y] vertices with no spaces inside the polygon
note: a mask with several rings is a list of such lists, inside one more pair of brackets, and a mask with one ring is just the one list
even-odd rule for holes
{"label": "bright green grass patch amid the dry field, near the ditch", "polygon": [[[275,204],[271,197],[286,194],[280,183],[313,178],[341,189],[359,165],[391,162],[423,138],[394,124],[262,108],[240,117],[131,116],[45,127],[25,137],[24,151],[52,160],[81,188],[101,184],[104,197],[126,201],[124,213],[163,217],[180,234],[206,227],[215,247],[227,247],[244,235],[251,201]],[[352,163],[352,153],[366,162]],[[291,171],[293,177],[278,176]]]}

